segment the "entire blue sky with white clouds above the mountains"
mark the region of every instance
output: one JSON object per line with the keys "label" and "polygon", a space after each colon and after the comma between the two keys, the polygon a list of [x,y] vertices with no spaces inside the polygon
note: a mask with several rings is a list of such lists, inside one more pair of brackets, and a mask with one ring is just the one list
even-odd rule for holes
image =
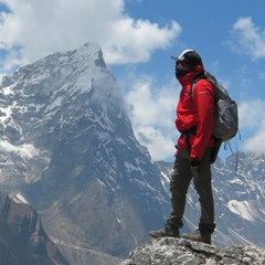
{"label": "entire blue sky with white clouds above the mountains", "polygon": [[[0,1],[0,77],[49,54],[98,43],[153,160],[173,160],[181,86],[174,61],[195,50],[239,104],[233,151],[265,152],[264,0]],[[231,150],[221,148],[225,160]]]}

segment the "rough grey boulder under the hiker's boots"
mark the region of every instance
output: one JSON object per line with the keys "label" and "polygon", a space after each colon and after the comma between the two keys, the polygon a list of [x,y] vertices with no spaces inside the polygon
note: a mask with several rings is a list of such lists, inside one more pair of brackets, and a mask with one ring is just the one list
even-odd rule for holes
{"label": "rough grey boulder under the hiker's boots", "polygon": [[218,247],[184,239],[151,240],[119,265],[264,265],[265,250],[256,246]]}

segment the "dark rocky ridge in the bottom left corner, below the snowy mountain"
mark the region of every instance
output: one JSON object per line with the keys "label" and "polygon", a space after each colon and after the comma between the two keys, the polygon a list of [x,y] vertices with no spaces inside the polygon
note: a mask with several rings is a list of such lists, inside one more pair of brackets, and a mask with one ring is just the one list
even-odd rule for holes
{"label": "dark rocky ridge in the bottom left corner, below the snowy mountain", "polygon": [[44,232],[36,211],[0,192],[0,264],[67,265]]}

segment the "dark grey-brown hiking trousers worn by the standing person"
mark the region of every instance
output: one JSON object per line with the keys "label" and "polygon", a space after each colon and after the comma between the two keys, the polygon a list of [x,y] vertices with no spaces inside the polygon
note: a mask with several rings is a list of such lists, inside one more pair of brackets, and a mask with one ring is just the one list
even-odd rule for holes
{"label": "dark grey-brown hiking trousers worn by the standing person", "polygon": [[190,167],[189,150],[179,150],[170,181],[172,212],[170,213],[168,222],[173,226],[179,229],[183,226],[182,218],[184,214],[186,198],[193,177],[194,188],[199,194],[201,204],[199,229],[206,230],[210,233],[214,231],[211,155],[212,148],[206,148],[199,169],[192,170]]}

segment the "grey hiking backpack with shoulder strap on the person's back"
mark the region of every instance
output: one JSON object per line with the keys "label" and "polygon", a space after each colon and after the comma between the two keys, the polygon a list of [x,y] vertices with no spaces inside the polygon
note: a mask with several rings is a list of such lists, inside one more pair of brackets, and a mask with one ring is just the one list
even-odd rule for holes
{"label": "grey hiking backpack with shoulder strap on the person's back", "polygon": [[239,130],[237,104],[229,96],[227,91],[218,83],[216,78],[206,71],[194,80],[192,93],[195,83],[201,78],[208,80],[214,87],[214,128],[212,134],[221,141],[229,141]]}

